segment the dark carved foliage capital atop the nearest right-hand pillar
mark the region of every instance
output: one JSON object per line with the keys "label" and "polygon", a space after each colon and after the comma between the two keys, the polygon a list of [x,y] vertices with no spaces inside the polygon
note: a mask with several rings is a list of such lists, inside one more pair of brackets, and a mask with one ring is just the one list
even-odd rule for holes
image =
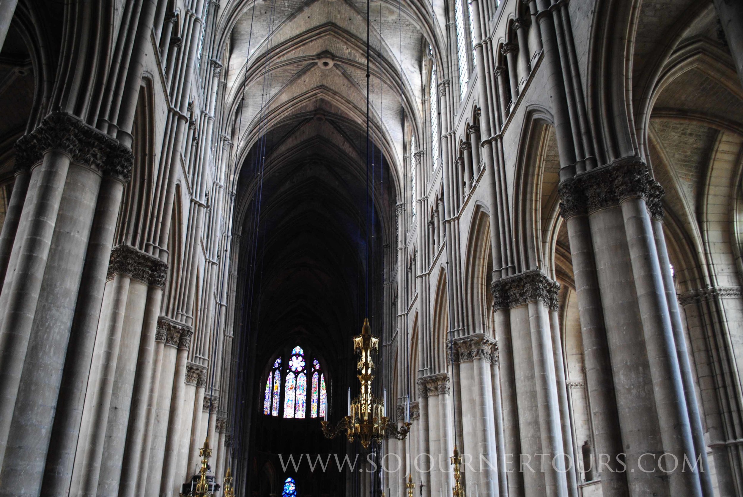
{"label": "dark carved foliage capital atop the nearest right-hand pillar", "polygon": [[642,197],[652,217],[663,217],[663,187],[653,180],[645,162],[636,157],[617,159],[578,174],[560,183],[558,191],[560,215],[565,219],[619,205],[630,197]]}

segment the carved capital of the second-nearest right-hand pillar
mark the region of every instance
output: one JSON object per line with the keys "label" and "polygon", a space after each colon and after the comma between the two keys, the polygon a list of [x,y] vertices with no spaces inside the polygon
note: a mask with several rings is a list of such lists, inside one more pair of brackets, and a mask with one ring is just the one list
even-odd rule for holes
{"label": "carved capital of the second-nearest right-hand pillar", "polygon": [[540,300],[550,309],[557,309],[559,283],[536,269],[493,281],[491,289],[496,309],[520,306],[530,300]]}

